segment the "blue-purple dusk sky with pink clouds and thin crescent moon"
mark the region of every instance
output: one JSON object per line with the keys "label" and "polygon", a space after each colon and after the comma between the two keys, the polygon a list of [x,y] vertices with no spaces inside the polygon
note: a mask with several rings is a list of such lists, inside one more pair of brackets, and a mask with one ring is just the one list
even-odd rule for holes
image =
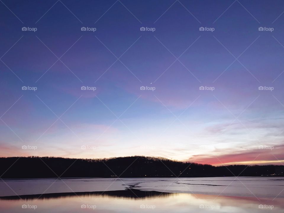
{"label": "blue-purple dusk sky with pink clouds and thin crescent moon", "polygon": [[0,156],[283,164],[283,11],[1,0]]}

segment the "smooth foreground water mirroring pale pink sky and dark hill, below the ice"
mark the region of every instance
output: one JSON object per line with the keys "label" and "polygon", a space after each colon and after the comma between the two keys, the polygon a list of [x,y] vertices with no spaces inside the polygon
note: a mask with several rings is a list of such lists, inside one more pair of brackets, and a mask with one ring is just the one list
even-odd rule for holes
{"label": "smooth foreground water mirroring pale pink sky and dark hill, below the ice", "polygon": [[[52,193],[0,197],[8,212],[283,212],[284,199],[161,193],[128,189],[107,192]],[[22,208],[22,206],[24,208]]]}

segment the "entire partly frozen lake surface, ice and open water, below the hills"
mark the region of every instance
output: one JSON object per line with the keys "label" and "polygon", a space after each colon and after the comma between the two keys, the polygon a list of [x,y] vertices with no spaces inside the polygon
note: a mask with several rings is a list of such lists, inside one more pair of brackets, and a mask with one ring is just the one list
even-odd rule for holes
{"label": "entire partly frozen lake surface, ice and open water, below the hills", "polygon": [[274,177],[0,181],[1,212],[283,212],[283,201]]}

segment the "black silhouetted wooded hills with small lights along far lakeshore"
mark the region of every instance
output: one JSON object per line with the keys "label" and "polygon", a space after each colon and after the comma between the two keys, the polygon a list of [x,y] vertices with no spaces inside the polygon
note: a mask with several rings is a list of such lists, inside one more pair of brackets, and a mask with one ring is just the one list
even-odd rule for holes
{"label": "black silhouetted wooded hills with small lights along far lakeshore", "polygon": [[212,166],[162,157],[72,159],[61,157],[1,157],[1,178],[136,178],[283,176],[284,166]]}

